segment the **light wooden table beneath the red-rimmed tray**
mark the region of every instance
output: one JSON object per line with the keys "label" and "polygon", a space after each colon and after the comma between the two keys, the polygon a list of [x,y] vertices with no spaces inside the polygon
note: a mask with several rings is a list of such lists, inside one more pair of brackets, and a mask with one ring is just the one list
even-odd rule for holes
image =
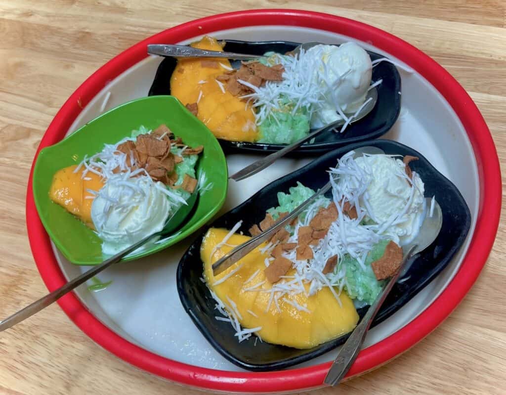
{"label": "light wooden table beneath the red-rimmed tray", "polygon": [[[53,116],[107,60],[191,19],[247,8],[300,8],[353,18],[396,34],[432,56],[468,90],[490,127],[504,173],[506,3],[419,3],[0,0],[0,317],[47,292],[28,246],[25,193],[35,149]],[[450,317],[395,361],[344,384],[342,392],[505,393],[505,254],[502,221],[481,277]],[[0,334],[0,393],[200,392],[123,363],[79,331],[55,304]]]}

